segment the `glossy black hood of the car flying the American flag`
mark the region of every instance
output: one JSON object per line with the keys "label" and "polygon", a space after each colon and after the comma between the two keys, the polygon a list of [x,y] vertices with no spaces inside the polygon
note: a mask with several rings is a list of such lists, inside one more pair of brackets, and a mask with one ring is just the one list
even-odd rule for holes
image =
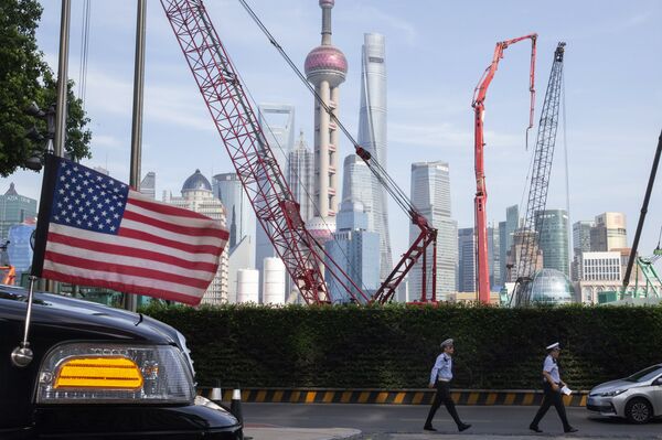
{"label": "glossy black hood of the car flying the American flag", "polygon": [[[26,300],[25,289],[3,286],[0,289],[0,319],[21,321],[22,324]],[[140,313],[43,292],[34,293],[30,328],[31,334],[41,330],[53,340],[131,340],[179,345],[174,329]]]}

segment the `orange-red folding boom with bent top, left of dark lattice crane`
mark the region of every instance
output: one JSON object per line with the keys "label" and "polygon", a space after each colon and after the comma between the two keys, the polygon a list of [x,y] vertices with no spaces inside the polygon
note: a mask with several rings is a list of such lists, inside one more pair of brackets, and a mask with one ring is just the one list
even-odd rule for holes
{"label": "orange-red folding boom with bent top, left of dark lattice crane", "polygon": [[476,247],[477,247],[477,261],[478,261],[478,299],[481,302],[490,302],[490,268],[488,261],[488,215],[487,215],[487,203],[488,203],[488,187],[485,184],[485,172],[484,172],[484,160],[483,160],[483,148],[485,146],[483,138],[483,117],[484,117],[484,101],[488,93],[488,87],[494,78],[499,61],[503,58],[503,51],[509,45],[517,43],[522,40],[531,39],[531,72],[530,72],[530,92],[531,92],[531,110],[528,129],[533,127],[533,108],[535,103],[535,88],[534,88],[534,73],[535,73],[535,42],[537,34],[532,33],[530,35],[520,36],[517,39],[506,40],[496,43],[494,49],[494,56],[492,56],[492,63],[485,68],[482,77],[478,82],[476,89],[473,90],[473,101],[471,107],[474,110],[474,168],[476,168],[476,198],[474,202],[474,215],[476,215]]}

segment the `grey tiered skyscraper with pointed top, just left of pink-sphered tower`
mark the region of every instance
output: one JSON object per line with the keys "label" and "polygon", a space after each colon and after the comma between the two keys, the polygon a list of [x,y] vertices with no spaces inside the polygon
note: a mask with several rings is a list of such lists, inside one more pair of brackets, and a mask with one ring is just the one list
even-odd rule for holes
{"label": "grey tiered skyscraper with pointed top, just left of pink-sphered tower", "polygon": [[289,153],[287,164],[287,183],[292,196],[299,203],[303,222],[312,218],[314,196],[314,163],[312,151],[303,139],[303,131],[299,132],[299,141]]}

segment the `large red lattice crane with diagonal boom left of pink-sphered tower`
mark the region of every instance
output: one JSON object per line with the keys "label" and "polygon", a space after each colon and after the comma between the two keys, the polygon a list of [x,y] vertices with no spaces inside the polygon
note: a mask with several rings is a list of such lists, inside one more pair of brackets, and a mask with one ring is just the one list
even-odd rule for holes
{"label": "large red lattice crane with diagonal boom left of pink-sphered tower", "polygon": [[[255,210],[256,217],[267,232],[303,300],[309,304],[331,302],[321,271],[322,267],[327,269],[327,277],[333,277],[350,298],[360,303],[389,301],[398,283],[420,256],[424,258],[425,280],[426,250],[431,244],[433,258],[436,257],[437,230],[429,226],[427,219],[418,213],[386,170],[371,158],[370,152],[353,141],[331,109],[321,103],[343,132],[352,139],[356,154],[367,163],[376,179],[394,196],[396,203],[409,213],[412,222],[420,228],[417,239],[372,298],[369,298],[348,277],[306,228],[299,213],[299,204],[295,201],[257,122],[239,76],[227,56],[202,0],[161,0],[161,6],[223,139],[237,176]],[[268,34],[268,31],[261,28]],[[270,41],[285,54],[273,36]],[[285,56],[293,66],[289,57]],[[302,77],[300,72],[298,73]],[[306,84],[308,85],[307,82]],[[436,300],[435,269],[436,265],[433,265],[433,301]],[[428,301],[425,290],[421,301]]]}

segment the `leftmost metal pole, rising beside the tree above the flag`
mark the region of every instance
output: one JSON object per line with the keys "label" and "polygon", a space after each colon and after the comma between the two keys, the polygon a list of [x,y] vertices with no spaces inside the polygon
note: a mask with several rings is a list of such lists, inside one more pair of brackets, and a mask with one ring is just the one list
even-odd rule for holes
{"label": "leftmost metal pole, rising beside the tree above the flag", "polygon": [[71,18],[71,0],[62,0],[60,18],[60,56],[57,62],[57,104],[55,107],[55,155],[63,157],[66,140],[66,97],[68,66],[68,33]]}

